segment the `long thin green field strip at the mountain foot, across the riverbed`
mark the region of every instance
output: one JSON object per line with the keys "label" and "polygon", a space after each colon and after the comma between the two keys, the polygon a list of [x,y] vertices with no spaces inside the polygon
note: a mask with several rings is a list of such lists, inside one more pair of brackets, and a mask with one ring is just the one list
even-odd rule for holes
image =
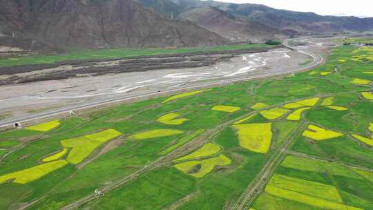
{"label": "long thin green field strip at the mountain foot, across the riverbed", "polygon": [[35,64],[54,64],[58,61],[82,61],[95,59],[119,59],[149,55],[172,55],[196,52],[219,52],[222,50],[242,50],[247,48],[272,48],[265,44],[227,45],[205,48],[110,48],[95,50],[71,50],[61,55],[31,55],[0,59],[1,66],[22,66]]}

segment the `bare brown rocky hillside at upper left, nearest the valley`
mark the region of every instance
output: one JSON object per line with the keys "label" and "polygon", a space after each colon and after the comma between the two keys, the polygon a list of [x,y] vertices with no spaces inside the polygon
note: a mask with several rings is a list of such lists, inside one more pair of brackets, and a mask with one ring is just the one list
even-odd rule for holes
{"label": "bare brown rocky hillside at upper left, nearest the valley", "polygon": [[[1,40],[8,41],[1,41]],[[0,42],[30,48],[212,46],[227,40],[132,0],[0,0]],[[25,41],[28,40],[28,41]]]}

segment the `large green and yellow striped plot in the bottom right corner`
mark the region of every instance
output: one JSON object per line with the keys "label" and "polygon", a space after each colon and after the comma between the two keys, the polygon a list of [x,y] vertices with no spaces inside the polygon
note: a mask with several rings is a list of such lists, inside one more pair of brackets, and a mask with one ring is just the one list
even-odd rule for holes
{"label": "large green and yellow striped plot in the bottom right corner", "polygon": [[[323,175],[327,174],[334,179],[334,182],[329,178],[323,178]],[[373,204],[372,198],[365,202],[355,202],[364,200],[366,197],[358,197],[363,194],[354,197],[347,191],[356,191],[363,184],[367,184],[367,189],[372,189],[373,185],[364,178],[371,174],[369,171],[356,173],[356,169],[338,164],[287,156],[280,169],[269,180],[265,191],[256,200],[253,208],[258,210],[274,210],[279,207],[369,209]],[[343,184],[343,182],[348,183]],[[354,183],[356,183],[355,186],[350,185]]]}

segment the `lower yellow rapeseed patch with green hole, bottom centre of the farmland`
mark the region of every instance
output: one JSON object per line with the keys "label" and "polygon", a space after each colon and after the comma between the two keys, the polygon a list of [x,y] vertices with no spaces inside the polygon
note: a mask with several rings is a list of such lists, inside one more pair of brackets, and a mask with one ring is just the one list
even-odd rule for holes
{"label": "lower yellow rapeseed patch with green hole, bottom centre of the farmland", "polygon": [[[183,162],[180,164],[176,164],[176,169],[183,171],[189,175],[192,175],[196,178],[202,178],[208,173],[210,173],[215,166],[226,166],[231,164],[231,160],[227,158],[225,155],[218,155],[216,158],[209,158],[206,160],[200,161],[189,161]],[[195,166],[200,165],[200,169],[198,171],[193,171]]]}

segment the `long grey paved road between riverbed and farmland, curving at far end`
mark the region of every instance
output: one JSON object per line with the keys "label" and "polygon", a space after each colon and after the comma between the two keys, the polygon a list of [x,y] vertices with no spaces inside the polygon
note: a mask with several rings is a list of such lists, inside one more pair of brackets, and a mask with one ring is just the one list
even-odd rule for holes
{"label": "long grey paved road between riverbed and farmland, curving at far end", "polygon": [[[284,45],[287,46],[287,40],[284,41]],[[296,50],[294,48],[291,48],[290,46],[287,46],[287,48],[289,48],[291,50]],[[291,73],[296,73],[296,72],[300,72],[300,71],[303,71],[303,70],[308,70],[310,68],[314,68],[315,66],[318,66],[318,65],[322,64],[323,61],[324,61],[323,57],[321,57],[320,55],[314,55],[312,53],[307,53],[307,52],[304,52],[304,51],[301,51],[301,50],[297,50],[297,51],[299,53],[309,55],[310,57],[312,57],[314,59],[314,61],[311,62],[309,65],[300,67],[296,70],[287,70],[285,72],[280,72],[280,73],[267,73],[267,74],[254,75],[254,76],[243,77],[243,78],[238,78],[238,79],[237,78],[224,79],[224,82],[222,82],[220,80],[218,82],[205,82],[203,84],[187,85],[187,86],[184,86],[182,88],[168,88],[166,90],[162,90],[162,91],[159,91],[159,92],[142,93],[142,94],[130,95],[130,96],[127,95],[125,97],[116,97],[116,98],[113,98],[113,99],[106,99],[106,100],[97,101],[97,102],[90,102],[88,104],[82,104],[82,105],[79,105],[79,106],[71,106],[69,108],[63,108],[63,109],[59,109],[59,110],[56,110],[56,111],[48,111],[48,112],[40,113],[40,114],[37,114],[37,115],[30,115],[28,117],[22,117],[22,118],[18,118],[18,119],[14,119],[14,120],[3,121],[3,122],[0,122],[0,127],[15,124],[17,122],[24,122],[24,121],[28,121],[28,120],[37,120],[37,119],[43,118],[43,117],[49,117],[49,116],[53,116],[53,115],[69,113],[71,111],[79,111],[79,110],[84,109],[84,108],[92,108],[92,107],[101,106],[101,105],[104,105],[104,104],[112,104],[114,102],[131,101],[131,100],[135,100],[135,99],[141,99],[141,98],[144,98],[144,97],[156,97],[156,96],[164,95],[164,94],[167,94],[167,93],[171,94],[171,93],[175,93],[175,92],[182,92],[182,91],[190,90],[190,89],[193,89],[193,88],[209,88],[211,86],[245,82],[245,81],[249,81],[249,80],[253,80],[253,79],[260,79],[260,78],[265,78],[265,77],[274,77],[274,76],[279,76],[279,75],[289,75]]]}

